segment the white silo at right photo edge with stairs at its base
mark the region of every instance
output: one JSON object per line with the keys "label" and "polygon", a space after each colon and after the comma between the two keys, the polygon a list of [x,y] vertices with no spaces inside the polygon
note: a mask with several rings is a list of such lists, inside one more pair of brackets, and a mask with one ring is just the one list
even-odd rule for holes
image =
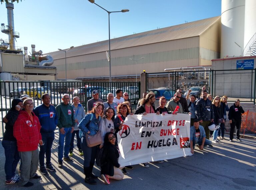
{"label": "white silo at right photo edge with stairs at its base", "polygon": [[[256,33],[256,1],[245,0],[245,17],[244,17],[244,48]],[[255,38],[254,38],[255,40]],[[253,43],[249,43],[249,46]],[[246,48],[248,49],[248,48]],[[245,49],[245,51],[246,51]],[[244,52],[245,54],[246,52]]]}

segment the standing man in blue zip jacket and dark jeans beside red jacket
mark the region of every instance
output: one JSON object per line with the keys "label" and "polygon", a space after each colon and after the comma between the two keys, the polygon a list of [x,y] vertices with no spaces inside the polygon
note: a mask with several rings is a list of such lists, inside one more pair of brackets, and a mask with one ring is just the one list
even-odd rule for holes
{"label": "standing man in blue zip jacket and dark jeans beside red jacket", "polygon": [[[41,124],[40,133],[42,135],[43,145],[40,146],[39,165],[42,174],[47,174],[47,170],[55,171],[51,164],[51,148],[54,140],[54,131],[58,123],[56,109],[50,104],[51,97],[49,94],[42,95],[43,104],[34,108],[35,115],[39,118]],[[46,155],[46,168],[44,165],[44,155]]]}

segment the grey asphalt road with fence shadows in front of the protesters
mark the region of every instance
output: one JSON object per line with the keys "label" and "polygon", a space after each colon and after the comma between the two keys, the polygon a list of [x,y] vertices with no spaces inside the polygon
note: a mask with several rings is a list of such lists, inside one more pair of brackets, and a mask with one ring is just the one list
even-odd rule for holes
{"label": "grey asphalt road with fence shadows in front of the protesters", "polygon": [[[42,180],[33,179],[35,185],[28,189],[256,189],[256,140],[242,139],[229,142],[228,136],[213,148],[195,149],[193,156],[165,160],[164,163],[151,162],[149,168],[134,165],[127,170],[121,181],[110,180],[105,185],[97,179],[97,185],[84,182],[83,157],[74,152],[73,162],[65,162],[63,169],[57,167],[58,143],[52,147],[52,163],[56,172],[47,174]],[[55,139],[58,139],[56,130]],[[5,185],[4,151],[0,146],[0,189],[20,189],[18,184]],[[94,166],[94,174],[100,176],[100,169]],[[37,172],[40,174],[40,172]]]}

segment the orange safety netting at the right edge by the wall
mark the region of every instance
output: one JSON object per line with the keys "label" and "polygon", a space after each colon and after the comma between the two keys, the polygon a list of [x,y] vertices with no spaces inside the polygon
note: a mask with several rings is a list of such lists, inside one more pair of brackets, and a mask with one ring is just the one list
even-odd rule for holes
{"label": "orange safety netting at the right edge by the wall", "polygon": [[251,131],[253,133],[256,133],[256,113],[250,112],[247,110],[247,112],[244,112],[242,114],[242,124],[241,124],[241,132],[245,133],[245,130]]}

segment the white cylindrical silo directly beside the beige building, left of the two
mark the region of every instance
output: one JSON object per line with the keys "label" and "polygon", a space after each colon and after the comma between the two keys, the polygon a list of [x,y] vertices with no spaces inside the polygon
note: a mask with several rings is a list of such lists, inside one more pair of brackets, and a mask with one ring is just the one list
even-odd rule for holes
{"label": "white cylindrical silo directly beside the beige building, left of the two", "polygon": [[244,15],[245,0],[221,1],[220,58],[241,55],[244,49]]}

